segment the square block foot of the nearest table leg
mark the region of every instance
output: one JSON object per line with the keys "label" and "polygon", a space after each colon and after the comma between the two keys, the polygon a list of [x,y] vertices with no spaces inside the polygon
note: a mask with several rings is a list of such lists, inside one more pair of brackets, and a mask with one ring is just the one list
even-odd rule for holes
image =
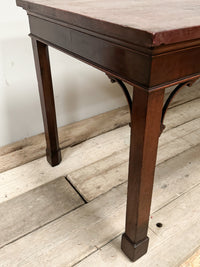
{"label": "square block foot of the nearest table leg", "polygon": [[136,261],[137,259],[142,257],[147,252],[148,244],[149,244],[148,237],[146,237],[139,243],[135,244],[128,238],[128,236],[125,233],[122,235],[122,244],[121,244],[122,251],[131,261]]}

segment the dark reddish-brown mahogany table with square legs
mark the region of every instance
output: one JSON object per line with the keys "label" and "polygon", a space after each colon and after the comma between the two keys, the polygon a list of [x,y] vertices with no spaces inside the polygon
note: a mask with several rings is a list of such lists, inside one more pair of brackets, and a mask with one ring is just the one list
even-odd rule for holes
{"label": "dark reddish-brown mahogany table with square legs", "polygon": [[[17,0],[29,17],[47,142],[61,161],[48,46],[105,72],[131,112],[126,229],[122,250],[146,253],[159,136],[169,103],[200,77],[199,0]],[[123,81],[134,86],[133,100]],[[166,103],[166,87],[178,84]],[[189,90],[189,88],[188,88]],[[187,111],[186,111],[187,112]]]}

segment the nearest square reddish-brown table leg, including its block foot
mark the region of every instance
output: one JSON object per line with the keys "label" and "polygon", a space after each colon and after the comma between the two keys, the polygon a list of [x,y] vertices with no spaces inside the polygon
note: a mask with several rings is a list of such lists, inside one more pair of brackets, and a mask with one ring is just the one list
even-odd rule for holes
{"label": "nearest square reddish-brown table leg, including its block foot", "polygon": [[147,252],[151,197],[164,89],[133,92],[126,229],[122,250],[135,261]]}

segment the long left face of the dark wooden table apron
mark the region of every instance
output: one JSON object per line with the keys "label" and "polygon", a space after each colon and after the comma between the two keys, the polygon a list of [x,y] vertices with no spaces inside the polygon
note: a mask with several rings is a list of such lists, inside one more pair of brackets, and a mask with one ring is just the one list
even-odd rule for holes
{"label": "long left face of the dark wooden table apron", "polygon": [[151,56],[29,15],[31,34],[87,64],[140,85],[149,81]]}

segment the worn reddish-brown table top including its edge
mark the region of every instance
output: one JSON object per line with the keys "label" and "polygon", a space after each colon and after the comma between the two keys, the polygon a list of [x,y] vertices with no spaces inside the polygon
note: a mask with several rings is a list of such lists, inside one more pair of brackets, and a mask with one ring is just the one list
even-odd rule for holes
{"label": "worn reddish-brown table top including its edge", "polygon": [[198,0],[17,0],[28,12],[144,46],[200,37]]}

